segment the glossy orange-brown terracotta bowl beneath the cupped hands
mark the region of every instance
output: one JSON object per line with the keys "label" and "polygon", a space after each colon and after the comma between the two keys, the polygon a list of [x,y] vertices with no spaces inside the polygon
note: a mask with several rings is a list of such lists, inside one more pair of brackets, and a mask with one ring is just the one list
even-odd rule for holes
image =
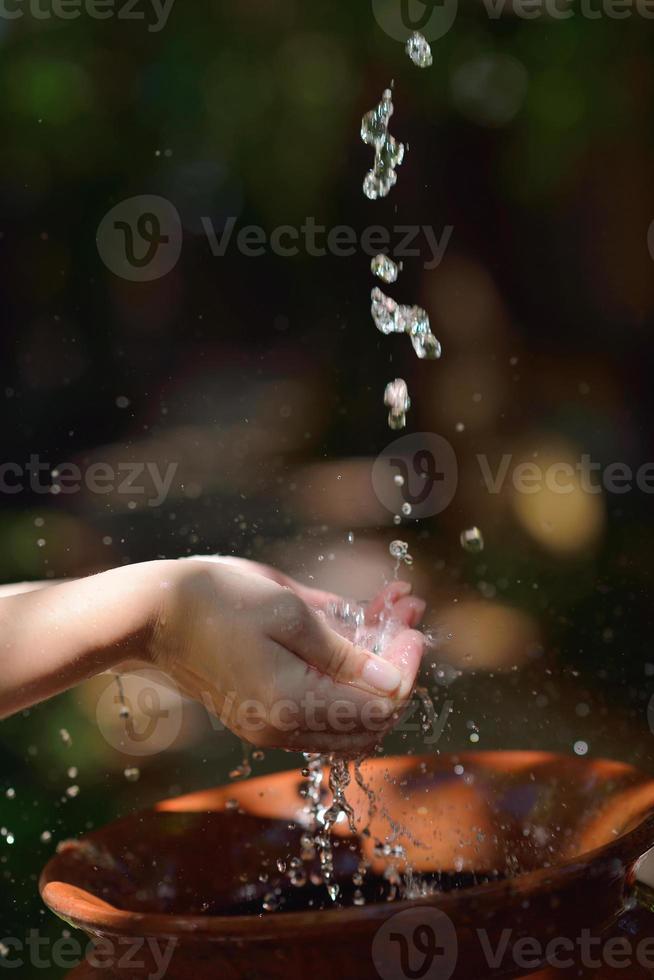
{"label": "glossy orange-brown terracotta bowl beneath the cupped hands", "polygon": [[[141,966],[106,959],[98,976],[158,976],[159,943],[170,980],[517,977],[547,965],[548,943],[605,936],[633,905],[636,863],[654,845],[654,780],[630,766],[491,752],[374,759],[363,774],[377,812],[353,780],[359,833],[338,825],[335,848],[341,904],[283,871],[306,825],[297,770],[166,800],[67,842],[41,895],[102,948],[138,946]],[[438,891],[385,900],[375,843],[391,837]],[[356,906],[362,857],[371,883]],[[265,912],[275,888],[279,910]]]}

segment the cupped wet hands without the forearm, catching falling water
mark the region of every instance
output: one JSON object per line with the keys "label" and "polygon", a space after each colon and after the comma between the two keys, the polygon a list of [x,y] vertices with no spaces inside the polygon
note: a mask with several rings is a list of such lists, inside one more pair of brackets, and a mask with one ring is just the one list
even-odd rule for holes
{"label": "cupped wet hands without the forearm, catching falling water", "polygon": [[239,559],[162,563],[151,662],[259,746],[359,753],[392,727],[412,691],[425,605],[396,582],[370,603],[391,620],[383,656],[325,622],[338,597]]}

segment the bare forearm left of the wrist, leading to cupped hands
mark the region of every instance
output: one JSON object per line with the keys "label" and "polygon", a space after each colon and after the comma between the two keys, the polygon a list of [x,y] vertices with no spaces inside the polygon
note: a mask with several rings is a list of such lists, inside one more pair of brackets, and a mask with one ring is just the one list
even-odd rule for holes
{"label": "bare forearm left of the wrist, leading to cupped hands", "polygon": [[127,566],[0,598],[0,717],[124,660],[147,660],[174,565]]}

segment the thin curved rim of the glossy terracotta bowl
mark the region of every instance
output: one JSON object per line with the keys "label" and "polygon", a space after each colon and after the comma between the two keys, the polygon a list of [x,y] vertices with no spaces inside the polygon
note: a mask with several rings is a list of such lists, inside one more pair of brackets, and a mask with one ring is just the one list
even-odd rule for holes
{"label": "thin curved rim of the glossy terracotta bowl", "polygon": [[[565,759],[579,763],[580,768],[586,765],[600,766],[602,764],[620,765],[625,771],[638,773],[647,777],[646,773],[637,769],[629,763],[619,760],[605,758],[576,758],[556,752],[538,751],[516,751],[489,750],[487,752],[451,752],[439,756],[439,760],[448,758],[459,760],[476,759],[483,760],[488,757],[511,756],[513,759],[538,758],[540,761]],[[419,765],[421,762],[432,762],[433,756],[382,756],[368,760],[374,765],[388,765],[389,763],[403,763],[407,761]],[[248,780],[250,784],[255,784],[259,780],[279,779],[282,781],[289,776],[297,778],[297,771],[294,769],[282,770],[267,776],[257,776],[253,780]],[[178,942],[202,941],[211,939],[216,942],[229,942],[234,940],[247,939],[248,942],[261,942],[270,939],[279,940],[288,934],[297,936],[298,930],[302,926],[319,926],[321,931],[340,931],[345,926],[370,928],[371,924],[381,922],[391,915],[407,909],[418,908],[420,906],[436,906],[444,913],[452,917],[453,910],[457,906],[462,908],[471,905],[477,909],[475,900],[483,903],[484,907],[506,907],[507,899],[511,899],[514,904],[516,899],[529,894],[531,898],[551,891],[552,879],[556,878],[557,886],[562,888],[567,879],[573,879],[584,869],[593,864],[609,865],[620,858],[625,865],[625,879],[630,884],[634,884],[634,868],[638,860],[654,846],[654,777],[648,778],[648,783],[652,787],[652,809],[646,813],[643,819],[631,830],[620,834],[608,844],[592,848],[582,854],[576,855],[562,861],[560,864],[552,865],[548,868],[539,868],[535,871],[528,871],[515,878],[505,878],[500,881],[489,882],[482,885],[472,885],[469,888],[445,894],[436,894],[427,898],[404,900],[392,903],[374,903],[361,907],[350,907],[345,909],[325,909],[325,910],[303,910],[298,912],[284,912],[279,915],[259,916],[259,915],[227,915],[227,916],[199,916],[184,915],[176,913],[148,913],[130,912],[116,908],[103,901],[92,892],[88,892],[76,885],[65,881],[57,880],[55,869],[58,862],[58,855],[55,854],[44,867],[39,879],[39,892],[45,904],[59,918],[68,922],[75,928],[81,929],[87,934],[120,935],[120,936],[148,936],[169,937],[174,935]],[[155,813],[163,810],[165,812],[172,803],[190,802],[199,800],[204,796],[211,797],[226,789],[226,786],[215,787],[214,789],[200,790],[196,793],[183,794],[160,801],[145,810],[137,811],[128,818],[138,819],[139,815]],[[171,808],[172,809],[172,808]],[[175,810],[174,812],[184,812]],[[192,811],[186,811],[192,812]],[[198,812],[197,810],[195,812]],[[118,822],[118,821],[114,821]],[[109,824],[108,826],[111,826]],[[103,828],[99,828],[101,831]],[[95,833],[99,832],[96,831]],[[80,838],[83,840],[84,838]]]}

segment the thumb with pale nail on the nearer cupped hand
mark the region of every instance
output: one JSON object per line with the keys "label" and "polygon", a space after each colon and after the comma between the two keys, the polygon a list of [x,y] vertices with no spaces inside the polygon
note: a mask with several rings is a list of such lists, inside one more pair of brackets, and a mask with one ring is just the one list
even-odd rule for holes
{"label": "thumb with pale nail on the nearer cupped hand", "polygon": [[330,629],[292,592],[275,603],[268,635],[336,684],[393,696],[402,684],[394,664],[355,647]]}

